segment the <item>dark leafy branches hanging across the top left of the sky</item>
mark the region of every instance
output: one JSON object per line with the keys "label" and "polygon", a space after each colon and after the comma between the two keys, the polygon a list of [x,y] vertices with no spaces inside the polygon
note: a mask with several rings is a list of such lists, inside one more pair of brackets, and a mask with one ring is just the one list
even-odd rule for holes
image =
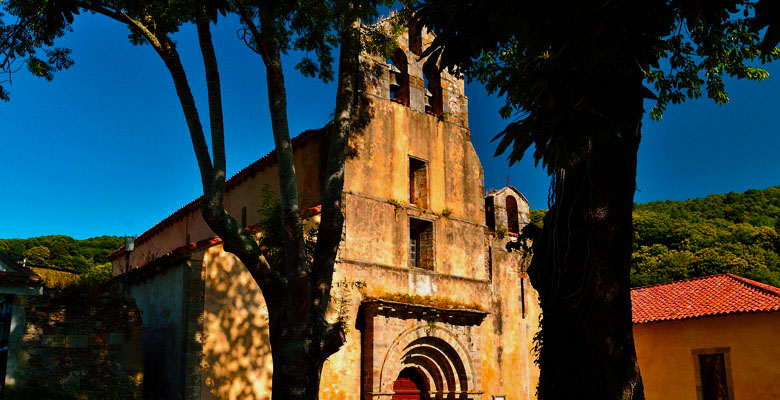
{"label": "dark leafy branches hanging across the top left of the sky", "polygon": [[[99,13],[126,24],[128,39],[134,45],[148,44],[143,32],[129,18],[142,21],[157,37],[174,34],[186,23],[205,16],[216,23],[219,15],[238,13],[238,4],[227,0],[171,0],[146,1],[84,1],[71,0],[5,0],[0,2],[0,74],[10,76],[23,63],[34,76],[51,80],[54,72],[73,64],[70,49],[55,47],[57,39],[72,29],[75,16],[86,11]],[[304,56],[295,66],[305,76],[323,81],[334,78],[333,50],[339,44],[341,25],[348,10],[358,7],[358,17],[371,23],[378,17],[380,6],[390,7],[394,2],[379,1],[299,1],[299,2],[242,2],[246,17],[255,25],[260,14],[269,21],[261,29],[272,31],[281,53],[302,51]],[[395,18],[389,24],[389,32],[367,29],[364,45],[379,52],[397,47],[397,37],[408,20]],[[250,29],[242,19],[243,29],[239,37],[255,52],[261,53]],[[391,49],[391,50],[392,50]],[[10,81],[10,79],[8,80]],[[8,90],[0,80],[0,100],[8,101]]]}

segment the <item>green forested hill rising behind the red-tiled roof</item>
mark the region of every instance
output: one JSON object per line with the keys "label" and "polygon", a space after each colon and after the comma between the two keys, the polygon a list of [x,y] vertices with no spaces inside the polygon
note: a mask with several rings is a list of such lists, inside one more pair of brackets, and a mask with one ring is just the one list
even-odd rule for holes
{"label": "green forested hill rising behind the red-tiled roof", "polygon": [[635,204],[631,283],[731,272],[780,286],[779,231],[780,186]]}

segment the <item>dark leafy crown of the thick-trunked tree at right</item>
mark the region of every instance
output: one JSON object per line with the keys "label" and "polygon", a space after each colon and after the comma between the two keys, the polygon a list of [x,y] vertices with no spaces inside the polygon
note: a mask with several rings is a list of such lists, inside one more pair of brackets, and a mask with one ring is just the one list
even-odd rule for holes
{"label": "dark leafy crown of the thick-trunked tree at right", "polygon": [[514,163],[533,147],[552,174],[593,142],[633,134],[644,99],[658,119],[702,94],[728,102],[724,75],[765,79],[754,62],[780,51],[760,52],[754,3],[425,0],[417,15],[438,34],[424,56],[504,96],[501,115],[516,119],[496,136],[496,155]]}

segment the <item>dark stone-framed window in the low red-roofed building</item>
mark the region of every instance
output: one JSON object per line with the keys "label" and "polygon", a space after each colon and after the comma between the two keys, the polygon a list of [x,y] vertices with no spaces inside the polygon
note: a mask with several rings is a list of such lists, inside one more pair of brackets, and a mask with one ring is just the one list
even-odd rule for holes
{"label": "dark stone-framed window in the low red-roofed building", "polygon": [[698,400],[733,400],[729,348],[693,350]]}

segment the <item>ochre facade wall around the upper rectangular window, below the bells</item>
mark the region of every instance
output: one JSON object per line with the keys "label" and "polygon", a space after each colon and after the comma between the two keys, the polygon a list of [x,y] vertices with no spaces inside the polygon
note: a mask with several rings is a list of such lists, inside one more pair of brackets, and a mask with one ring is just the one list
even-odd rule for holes
{"label": "ochre facade wall around the upper rectangular window, below the bells", "polygon": [[373,99],[373,107],[371,124],[351,140],[344,191],[409,204],[415,157],[427,163],[428,211],[484,224],[482,164],[468,129],[386,99]]}

